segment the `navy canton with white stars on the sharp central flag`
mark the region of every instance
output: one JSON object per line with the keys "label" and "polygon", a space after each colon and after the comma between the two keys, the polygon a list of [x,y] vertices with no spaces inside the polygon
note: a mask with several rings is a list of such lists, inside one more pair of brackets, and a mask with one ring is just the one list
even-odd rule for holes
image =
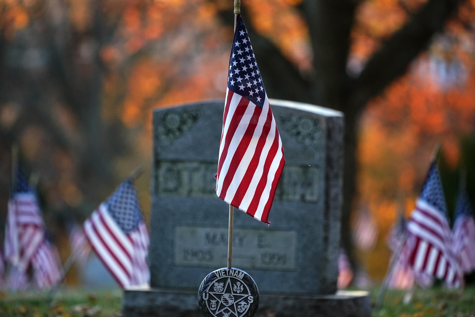
{"label": "navy canton with white stars on the sharp central flag", "polygon": [[251,41],[240,16],[234,33],[231,58],[229,58],[228,88],[262,109],[266,90],[257,67]]}

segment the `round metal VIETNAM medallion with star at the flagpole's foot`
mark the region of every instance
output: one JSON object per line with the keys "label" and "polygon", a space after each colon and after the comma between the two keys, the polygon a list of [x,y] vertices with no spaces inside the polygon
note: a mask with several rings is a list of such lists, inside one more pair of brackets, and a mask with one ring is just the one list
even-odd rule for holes
{"label": "round metal VIETNAM medallion with star at the flagpole's foot", "polygon": [[198,303],[204,317],[252,317],[259,305],[259,290],[243,270],[217,269],[201,282]]}

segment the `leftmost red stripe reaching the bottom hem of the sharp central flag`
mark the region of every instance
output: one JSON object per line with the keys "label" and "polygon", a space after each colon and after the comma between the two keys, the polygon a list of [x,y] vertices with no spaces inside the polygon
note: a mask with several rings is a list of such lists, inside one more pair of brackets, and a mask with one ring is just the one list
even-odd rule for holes
{"label": "leftmost red stripe reaching the bottom hem of the sharp central flag", "polygon": [[221,193],[219,198],[224,199],[226,197],[226,192],[228,192],[229,185],[234,178],[234,174],[237,171],[237,167],[239,163],[241,163],[244,154],[246,153],[249,144],[251,143],[252,136],[254,135],[254,131],[256,130],[257,123],[259,122],[259,116],[262,113],[262,109],[259,107],[255,107],[254,113],[249,121],[249,125],[247,125],[246,132],[244,133],[239,145],[237,145],[236,151],[233,154],[231,162],[229,163],[228,173],[224,176],[223,186],[221,188]]}

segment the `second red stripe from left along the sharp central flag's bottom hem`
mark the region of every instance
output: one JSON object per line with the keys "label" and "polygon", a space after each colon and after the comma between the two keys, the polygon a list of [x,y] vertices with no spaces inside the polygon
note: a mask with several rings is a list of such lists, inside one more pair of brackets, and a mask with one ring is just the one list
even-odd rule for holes
{"label": "second red stripe from left along the sharp central flag's bottom hem", "polygon": [[249,184],[252,181],[252,177],[254,176],[254,173],[256,173],[257,165],[259,165],[259,158],[262,153],[262,149],[264,148],[264,145],[266,144],[266,139],[267,135],[269,135],[270,127],[272,124],[272,111],[267,112],[267,119],[266,123],[264,124],[264,127],[262,128],[262,133],[259,136],[259,140],[257,141],[256,144],[256,152],[254,152],[254,155],[252,156],[251,161],[249,162],[249,165],[247,166],[246,173],[244,173],[244,177],[242,178],[241,183],[237,187],[236,194],[233,197],[233,200],[231,201],[231,205],[233,206],[239,206],[244,199],[244,195],[246,195],[247,188],[249,187]]}

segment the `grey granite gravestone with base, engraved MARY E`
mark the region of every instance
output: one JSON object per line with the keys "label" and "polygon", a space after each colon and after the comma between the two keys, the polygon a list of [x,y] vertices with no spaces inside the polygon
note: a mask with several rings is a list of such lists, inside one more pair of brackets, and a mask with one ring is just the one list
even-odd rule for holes
{"label": "grey granite gravestone with base, engraved MARY E", "polygon": [[[341,309],[338,314],[349,309],[361,311],[352,316],[370,316],[367,296],[335,295],[342,113],[282,100],[270,104],[284,145],[285,168],[269,227],[235,210],[233,267],[256,281],[262,294],[259,312],[280,307],[276,316],[296,316],[290,307],[310,305],[314,309],[307,309],[309,315],[303,311],[298,316],[336,316],[328,308],[333,306]],[[228,205],[215,192],[223,109],[219,100],[153,113],[151,288],[125,291],[126,316],[152,311],[175,316],[175,310],[183,313],[182,307],[188,307],[186,316],[195,316],[201,281],[227,265]],[[167,307],[162,315],[160,307]],[[315,315],[315,307],[320,312],[330,309],[329,315]]]}

